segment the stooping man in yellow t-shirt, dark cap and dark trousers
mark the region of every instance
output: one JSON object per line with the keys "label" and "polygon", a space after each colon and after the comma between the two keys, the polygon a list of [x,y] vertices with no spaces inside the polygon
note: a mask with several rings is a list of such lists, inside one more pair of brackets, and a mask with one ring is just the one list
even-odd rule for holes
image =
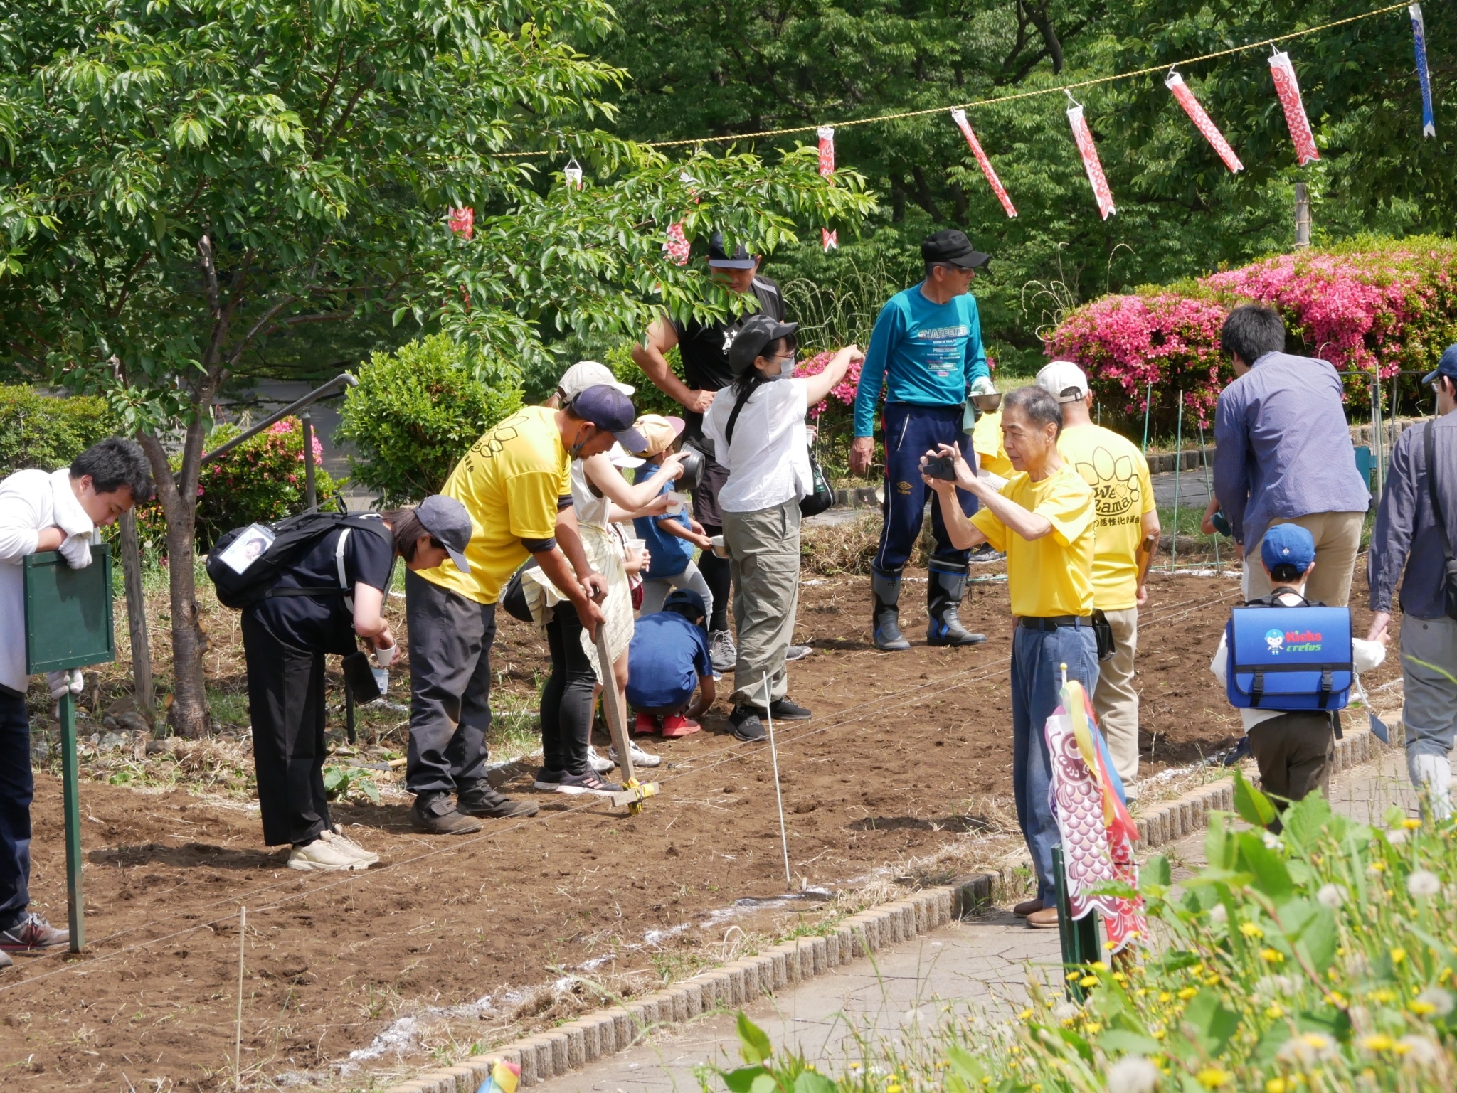
{"label": "stooping man in yellow t-shirt, dark cap and dark trousers", "polygon": [[[405,574],[409,625],[409,759],[405,788],[415,794],[418,831],[462,835],[476,816],[530,816],[485,780],[491,726],[491,643],[501,586],[527,557],[567,593],[589,632],[602,621],[593,602],[606,590],[577,538],[571,461],[647,446],[632,427],[637,411],[621,391],[587,388],[562,410],[526,407],[471,444],[440,491],[460,501],[475,533],[469,571],[450,560]],[[452,803],[450,794],[456,796]]]}

